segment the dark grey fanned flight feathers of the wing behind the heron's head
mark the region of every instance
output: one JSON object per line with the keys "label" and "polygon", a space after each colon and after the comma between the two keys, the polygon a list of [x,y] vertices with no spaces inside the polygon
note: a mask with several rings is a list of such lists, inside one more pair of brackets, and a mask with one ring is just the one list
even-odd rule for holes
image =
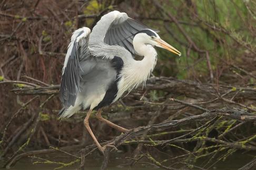
{"label": "dark grey fanned flight feathers of the wing behind the heron's head", "polygon": [[135,50],[132,44],[134,34],[143,29],[149,29],[149,27],[125,14],[121,18],[116,18],[112,23],[106,32],[104,42],[108,45],[122,46],[134,55]]}

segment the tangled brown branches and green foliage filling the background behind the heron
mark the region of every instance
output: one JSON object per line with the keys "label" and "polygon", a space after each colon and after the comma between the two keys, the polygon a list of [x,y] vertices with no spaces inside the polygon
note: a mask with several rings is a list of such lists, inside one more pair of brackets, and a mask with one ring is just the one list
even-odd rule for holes
{"label": "tangled brown branches and green foliage filling the background behind the heron", "polygon": [[[93,144],[83,125],[85,113],[59,120],[61,103],[58,86],[54,85],[61,82],[72,32],[82,26],[92,29],[101,16],[112,10],[160,30],[161,38],[180,50],[182,56],[157,49],[157,66],[147,86],[105,108],[104,116],[132,129],[208,115],[198,118],[203,121],[186,119],[186,124],[159,127],[159,131],[149,126],[140,135],[123,136],[126,142],[117,141],[116,146],[120,145],[120,157],[127,157],[126,164],[211,169],[239,155],[241,163],[226,167],[255,168],[256,2],[252,0],[2,0],[3,165],[14,165],[24,156],[55,152],[56,147],[68,153],[72,150],[76,156],[69,155],[73,159],[70,163],[48,160],[51,163],[62,167],[83,160],[78,151]],[[102,142],[120,135],[94,118],[91,126]],[[82,153],[93,147],[86,147]],[[100,153],[95,155],[101,157]],[[34,157],[33,161],[47,162],[42,157]]]}

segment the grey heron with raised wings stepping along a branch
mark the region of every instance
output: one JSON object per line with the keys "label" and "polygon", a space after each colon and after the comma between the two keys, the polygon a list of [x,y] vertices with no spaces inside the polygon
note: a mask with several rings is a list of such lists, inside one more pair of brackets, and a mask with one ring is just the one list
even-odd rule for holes
{"label": "grey heron with raised wings stepping along a branch", "polygon": [[[102,118],[102,108],[120,99],[146,80],[153,71],[157,53],[154,47],[165,48],[176,55],[181,52],[162,40],[157,31],[117,10],[105,14],[90,28],[74,31],[68,45],[60,88],[63,108],[59,115],[69,118],[88,109],[84,125],[99,150],[107,146],[97,141],[89,124],[93,110],[96,118],[123,133],[129,131]],[[142,56],[135,60],[134,56]]]}

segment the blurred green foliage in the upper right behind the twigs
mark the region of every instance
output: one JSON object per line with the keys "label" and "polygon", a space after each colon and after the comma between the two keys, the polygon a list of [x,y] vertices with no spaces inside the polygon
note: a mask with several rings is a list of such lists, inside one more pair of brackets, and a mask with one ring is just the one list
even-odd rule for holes
{"label": "blurred green foliage in the upper right behind the twigs", "polygon": [[[227,62],[241,62],[243,56],[251,56],[251,49],[255,55],[255,30],[253,26],[256,24],[255,19],[248,12],[248,5],[255,8],[256,4],[253,1],[163,1],[166,11],[174,16],[179,16],[179,21],[187,34],[195,42],[200,49],[208,50],[212,69],[216,70],[219,63],[227,59]],[[172,6],[170,8],[170,6]],[[185,11],[186,9],[187,11]],[[161,16],[158,16],[161,18]],[[152,26],[159,26],[157,22]],[[184,36],[180,35],[178,28],[173,24],[168,24],[172,34],[181,42],[186,44]],[[210,29],[212,27],[213,29]],[[170,36],[163,26],[160,29],[160,35],[166,39],[174,47],[182,52],[182,57],[176,59],[178,64],[178,72],[176,77],[180,79],[189,78],[191,75],[190,68],[193,63],[200,60],[202,57],[197,51],[190,51],[188,55],[188,46],[181,47],[177,41]],[[214,30],[216,29],[216,30]],[[241,45],[238,45],[238,43]],[[236,46],[236,47],[235,47]],[[247,46],[248,48],[244,48]],[[233,50],[235,48],[235,50]],[[160,52],[160,60],[166,63],[165,52]],[[171,56],[169,54],[169,56]],[[173,57],[173,56],[171,56]],[[162,63],[161,62],[161,63]],[[165,67],[168,67],[165,65]],[[192,66],[196,75],[206,76],[208,68],[205,60],[200,60],[199,63]],[[170,70],[170,69],[167,69]],[[157,67],[157,73],[160,73]],[[162,72],[161,72],[162,73]],[[175,76],[175,75],[172,75]],[[195,76],[195,75],[193,75]]]}

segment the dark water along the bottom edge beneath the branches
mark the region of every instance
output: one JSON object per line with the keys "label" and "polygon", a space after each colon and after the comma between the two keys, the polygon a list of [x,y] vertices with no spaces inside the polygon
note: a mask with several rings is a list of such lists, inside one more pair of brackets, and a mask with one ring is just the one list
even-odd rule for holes
{"label": "dark water along the bottom edge beneath the branches", "polygon": [[[240,167],[242,167],[243,165],[247,164],[248,162],[250,162],[252,160],[253,155],[255,156],[255,154],[242,154],[242,153],[236,153],[234,155],[232,155],[231,157],[229,157],[225,162],[218,162],[216,165],[214,165],[212,168],[210,169],[223,169],[223,170],[233,170],[233,169],[238,169]],[[39,156],[40,157],[40,156]],[[71,160],[70,158],[65,157],[64,155],[47,155],[46,156],[47,160],[58,160],[58,161],[62,161],[62,162],[71,162],[73,160]],[[122,155],[120,154],[116,154],[116,155],[112,155],[112,158],[110,160],[110,164],[108,166],[108,169],[113,169],[113,170],[120,170],[120,169],[136,169],[136,170],[155,170],[155,169],[161,169],[159,167],[154,166],[153,164],[136,164],[133,167],[130,167],[127,165],[128,160],[124,160],[122,157]],[[162,160],[162,159],[160,159]],[[34,170],[34,169],[38,169],[38,170],[45,170],[45,169],[54,169],[56,167],[58,167],[58,165],[56,164],[33,164],[33,162],[38,161],[32,158],[22,158],[21,160],[19,160],[14,167],[11,167],[11,170]],[[191,160],[193,161],[193,160]],[[203,163],[204,161],[207,160],[202,160],[201,163]],[[97,156],[97,157],[87,157],[85,160],[85,169],[100,169],[101,167],[101,163],[102,163],[102,159]],[[200,166],[200,163],[198,164]],[[66,168],[62,168],[62,169],[76,169],[79,166],[79,164],[75,164],[71,167],[66,167]],[[5,169],[5,168],[0,168],[1,170]],[[194,168],[196,169],[196,168]]]}

